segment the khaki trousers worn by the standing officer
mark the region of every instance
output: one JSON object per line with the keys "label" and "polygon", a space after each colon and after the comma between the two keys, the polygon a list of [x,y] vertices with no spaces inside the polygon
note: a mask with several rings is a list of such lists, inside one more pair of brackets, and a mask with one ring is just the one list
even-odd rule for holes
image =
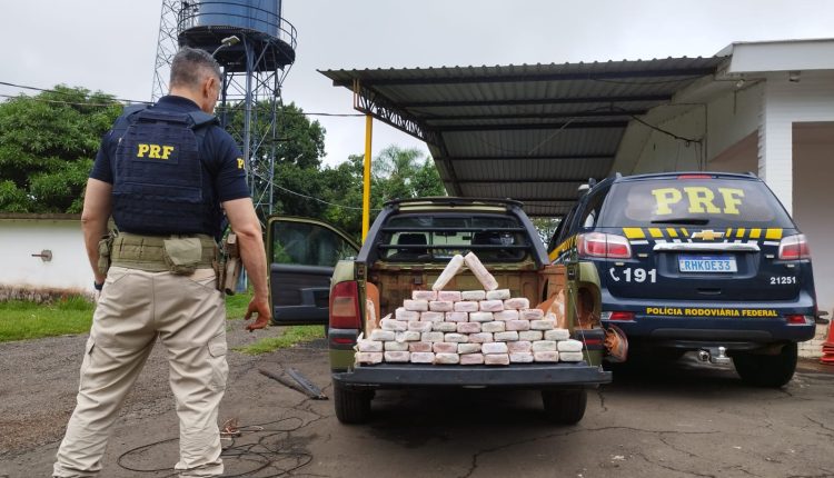
{"label": "khaki trousers worn by the standing officer", "polygon": [[157,338],[166,348],[179,416],[180,477],[218,476],[217,414],[226,389],[226,309],[215,272],[191,276],[110,268],[81,364],[78,405],[53,467],[56,477],[101,470],[111,426]]}

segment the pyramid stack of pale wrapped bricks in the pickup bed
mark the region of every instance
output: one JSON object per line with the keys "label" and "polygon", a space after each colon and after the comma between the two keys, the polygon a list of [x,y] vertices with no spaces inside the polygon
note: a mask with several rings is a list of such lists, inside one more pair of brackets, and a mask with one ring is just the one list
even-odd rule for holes
{"label": "pyramid stack of pale wrapped bricks in the pickup bed", "polygon": [[[443,290],[464,261],[485,290]],[[450,267],[454,272],[447,275]],[[556,328],[553,313],[530,309],[527,298],[497,287],[474,253],[456,256],[433,290],[413,291],[393,317],[358,341],[356,361],[506,366],[583,360],[582,342]]]}

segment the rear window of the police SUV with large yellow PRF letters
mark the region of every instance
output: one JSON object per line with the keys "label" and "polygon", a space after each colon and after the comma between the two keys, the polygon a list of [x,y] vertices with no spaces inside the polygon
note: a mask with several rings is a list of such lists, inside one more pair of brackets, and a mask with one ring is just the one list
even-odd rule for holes
{"label": "rear window of the police SUV with large yellow PRF letters", "polygon": [[617,182],[597,225],[793,227],[785,209],[763,182],[712,178]]}

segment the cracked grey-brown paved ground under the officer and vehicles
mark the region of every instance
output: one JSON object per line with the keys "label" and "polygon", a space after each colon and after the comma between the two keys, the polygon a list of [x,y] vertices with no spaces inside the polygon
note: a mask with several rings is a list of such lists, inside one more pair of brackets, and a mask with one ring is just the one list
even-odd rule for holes
{"label": "cracked grey-brown paved ground under the officer and vehicles", "polygon": [[[238,331],[234,346],[257,337]],[[264,335],[277,335],[272,328]],[[73,405],[85,337],[0,346],[0,477],[49,476]],[[222,420],[229,477],[834,477],[834,367],[803,361],[787,387],[748,387],[732,366],[694,357],[615,372],[588,395],[583,421],[543,420],[534,391],[380,391],[366,426],[340,425],[259,372],[294,367],[331,392],[324,340],[229,356]],[[105,477],[168,477],[177,420],[155,350],[117,422]]]}

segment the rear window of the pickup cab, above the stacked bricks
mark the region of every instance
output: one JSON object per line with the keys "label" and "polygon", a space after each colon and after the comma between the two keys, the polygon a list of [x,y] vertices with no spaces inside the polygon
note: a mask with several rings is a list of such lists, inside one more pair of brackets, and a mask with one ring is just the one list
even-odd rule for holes
{"label": "rear window of the pickup cab, above the stacked bricks", "polygon": [[469,251],[481,261],[515,262],[532,247],[526,229],[508,216],[404,215],[381,232],[379,258],[394,262],[446,262]]}

